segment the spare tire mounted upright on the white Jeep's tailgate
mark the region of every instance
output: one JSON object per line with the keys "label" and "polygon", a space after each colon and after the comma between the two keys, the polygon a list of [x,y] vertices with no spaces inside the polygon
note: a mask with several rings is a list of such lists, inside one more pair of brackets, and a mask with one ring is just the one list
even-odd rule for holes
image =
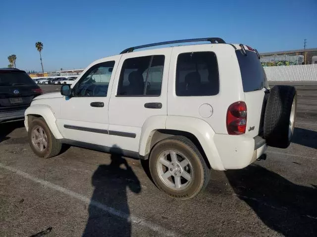
{"label": "spare tire mounted upright on the white Jeep's tailgate", "polygon": [[287,148],[294,132],[297,92],[294,86],[275,85],[264,115],[264,138],[271,147]]}

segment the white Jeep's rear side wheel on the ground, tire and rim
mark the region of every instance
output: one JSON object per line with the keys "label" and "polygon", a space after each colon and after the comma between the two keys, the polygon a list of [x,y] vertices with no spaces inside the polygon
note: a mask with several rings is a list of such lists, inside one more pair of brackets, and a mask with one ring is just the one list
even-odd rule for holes
{"label": "white Jeep's rear side wheel on the ground, tire and rim", "polygon": [[173,136],[155,145],[149,166],[156,186],[178,199],[195,197],[210,179],[210,169],[203,156],[193,142],[183,136]]}

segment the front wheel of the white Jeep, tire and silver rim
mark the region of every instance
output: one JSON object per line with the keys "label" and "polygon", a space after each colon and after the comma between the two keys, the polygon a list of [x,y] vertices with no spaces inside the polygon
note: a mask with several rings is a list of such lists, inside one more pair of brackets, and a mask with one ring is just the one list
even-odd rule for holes
{"label": "front wheel of the white Jeep, tire and silver rim", "polygon": [[28,131],[31,149],[41,158],[57,156],[62,144],[54,137],[44,118],[34,118]]}

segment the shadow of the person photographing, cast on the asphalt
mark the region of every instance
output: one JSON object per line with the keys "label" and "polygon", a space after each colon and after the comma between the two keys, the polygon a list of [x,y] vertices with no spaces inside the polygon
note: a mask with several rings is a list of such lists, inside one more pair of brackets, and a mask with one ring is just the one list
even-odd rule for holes
{"label": "shadow of the person photographing, cast on the asphalt", "polygon": [[[113,149],[118,149],[114,146]],[[140,181],[119,155],[111,155],[109,165],[100,165],[92,177],[95,187],[83,237],[131,236],[127,189],[141,192]]]}

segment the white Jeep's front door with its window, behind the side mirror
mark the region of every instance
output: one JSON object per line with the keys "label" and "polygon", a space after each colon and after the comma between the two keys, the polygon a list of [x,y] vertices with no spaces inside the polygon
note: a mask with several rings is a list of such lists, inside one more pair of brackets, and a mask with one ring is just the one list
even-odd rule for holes
{"label": "white Jeep's front door with its window, behind the side mirror", "polygon": [[[64,138],[108,146],[108,104],[120,56],[90,65],[62,100],[56,123]],[[113,71],[113,73],[112,73]]]}

